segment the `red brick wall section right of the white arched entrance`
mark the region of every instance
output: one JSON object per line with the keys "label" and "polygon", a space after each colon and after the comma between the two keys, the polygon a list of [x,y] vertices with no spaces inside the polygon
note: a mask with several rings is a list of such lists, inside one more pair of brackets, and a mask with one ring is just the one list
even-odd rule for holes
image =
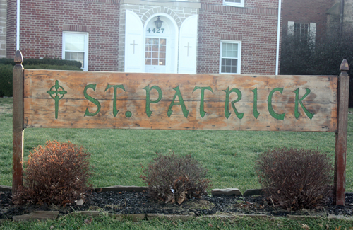
{"label": "red brick wall section right of the white arched entrance", "polygon": [[278,1],[245,0],[245,7],[201,1],[198,73],[219,73],[220,40],[241,40],[241,74],[275,74]]}

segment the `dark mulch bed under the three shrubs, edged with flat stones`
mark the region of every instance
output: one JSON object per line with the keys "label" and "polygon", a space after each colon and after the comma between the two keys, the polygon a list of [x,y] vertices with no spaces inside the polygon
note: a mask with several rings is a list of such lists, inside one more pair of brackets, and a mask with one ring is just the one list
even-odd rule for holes
{"label": "dark mulch bed under the three shrubs, edged with flat stones", "polygon": [[328,217],[329,214],[353,215],[353,194],[346,194],[346,205],[333,205],[333,199],[315,209],[290,211],[273,206],[263,196],[236,197],[228,195],[204,195],[201,199],[192,199],[181,205],[151,200],[147,192],[92,192],[83,205],[13,205],[11,191],[0,192],[0,219],[35,211],[59,211],[69,214],[74,211],[97,210],[114,214],[267,214],[275,217],[287,215],[317,215]]}

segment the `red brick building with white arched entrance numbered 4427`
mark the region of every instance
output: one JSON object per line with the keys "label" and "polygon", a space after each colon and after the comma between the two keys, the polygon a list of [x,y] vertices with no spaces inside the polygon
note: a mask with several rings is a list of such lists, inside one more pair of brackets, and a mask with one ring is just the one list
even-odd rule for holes
{"label": "red brick building with white arched entrance numbered 4427", "polygon": [[[16,2],[7,1],[8,58],[16,51]],[[21,0],[19,44],[23,57],[76,59],[90,71],[275,74],[278,6],[278,0]]]}

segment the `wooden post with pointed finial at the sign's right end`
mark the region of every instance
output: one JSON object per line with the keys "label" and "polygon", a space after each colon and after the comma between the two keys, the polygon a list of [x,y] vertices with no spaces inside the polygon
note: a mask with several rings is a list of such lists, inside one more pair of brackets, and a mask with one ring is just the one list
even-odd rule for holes
{"label": "wooden post with pointed finial at the sign's right end", "polygon": [[346,59],[340,66],[337,95],[337,132],[335,146],[334,193],[336,205],[345,205],[346,155],[347,155],[347,119],[349,96],[349,70]]}

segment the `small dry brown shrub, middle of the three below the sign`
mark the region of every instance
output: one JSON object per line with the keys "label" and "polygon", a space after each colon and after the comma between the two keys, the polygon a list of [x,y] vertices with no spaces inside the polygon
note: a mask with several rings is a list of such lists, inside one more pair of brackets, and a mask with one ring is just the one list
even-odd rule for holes
{"label": "small dry brown shrub, middle of the three below the sign", "polygon": [[207,194],[210,183],[205,179],[207,170],[190,155],[169,154],[157,157],[140,176],[148,184],[150,197],[164,202],[177,202]]}

